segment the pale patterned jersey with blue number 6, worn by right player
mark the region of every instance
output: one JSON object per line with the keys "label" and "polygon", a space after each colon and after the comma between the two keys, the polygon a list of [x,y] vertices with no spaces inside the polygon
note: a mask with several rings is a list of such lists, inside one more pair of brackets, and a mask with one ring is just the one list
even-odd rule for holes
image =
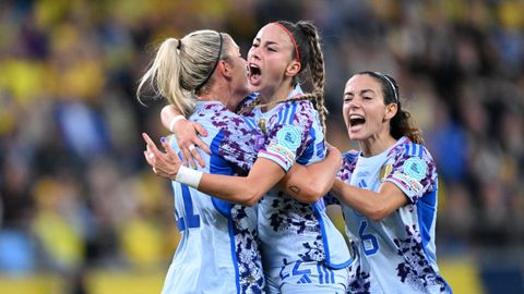
{"label": "pale patterned jersey with blue number 6, worn by right player", "polygon": [[428,150],[403,137],[373,157],[346,152],[338,179],[378,192],[395,184],[408,204],[381,221],[343,205],[346,232],[356,254],[349,293],[448,293],[434,248],[437,169]]}

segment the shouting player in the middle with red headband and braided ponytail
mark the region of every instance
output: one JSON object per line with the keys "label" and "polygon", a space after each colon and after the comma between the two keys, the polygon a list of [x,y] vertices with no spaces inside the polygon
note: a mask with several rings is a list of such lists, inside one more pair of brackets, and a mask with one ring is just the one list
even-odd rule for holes
{"label": "shouting player in the middle with red headband and braided ponytail", "polygon": [[[163,143],[170,156],[160,157],[146,139],[155,158],[162,159],[150,163],[167,171],[163,174],[168,177],[224,200],[258,203],[266,292],[343,293],[352,258],[323,200],[303,204],[273,188],[295,162],[309,164],[325,156],[324,68],[317,28],[308,22],[270,23],[258,33],[248,59],[249,81],[257,94],[243,113],[266,136],[249,174],[193,171],[181,164],[169,145]],[[314,90],[305,95],[298,76],[308,66]]]}

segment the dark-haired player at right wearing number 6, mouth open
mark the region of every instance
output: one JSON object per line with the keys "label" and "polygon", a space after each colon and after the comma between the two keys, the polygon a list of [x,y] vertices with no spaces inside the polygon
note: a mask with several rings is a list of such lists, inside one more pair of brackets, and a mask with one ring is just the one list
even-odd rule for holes
{"label": "dark-haired player at right wearing number 6, mouth open", "polygon": [[378,72],[352,76],[343,112],[360,147],[344,155],[333,186],[357,254],[349,291],[451,292],[436,258],[436,164],[402,109],[396,82]]}

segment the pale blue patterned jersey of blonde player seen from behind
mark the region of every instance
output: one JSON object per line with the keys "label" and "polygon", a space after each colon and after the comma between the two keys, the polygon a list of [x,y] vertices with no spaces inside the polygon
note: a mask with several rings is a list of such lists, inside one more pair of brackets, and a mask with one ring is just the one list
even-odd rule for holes
{"label": "pale blue patterned jersey of blonde player seen from behind", "polygon": [[[222,103],[199,102],[190,120],[207,131],[203,172],[233,175],[253,164],[263,134]],[[179,152],[178,144],[171,146]],[[261,293],[257,207],[234,205],[172,182],[175,216],[182,238],[166,277],[167,293]]]}

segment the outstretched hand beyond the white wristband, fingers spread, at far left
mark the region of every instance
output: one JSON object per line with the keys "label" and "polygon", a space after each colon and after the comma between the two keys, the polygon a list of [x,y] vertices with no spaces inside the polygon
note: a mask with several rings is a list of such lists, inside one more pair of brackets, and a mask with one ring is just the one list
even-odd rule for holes
{"label": "outstretched hand beyond the white wristband, fingers spread, at far left", "polygon": [[175,180],[182,162],[175,150],[172,150],[167,139],[164,137],[162,139],[162,146],[164,146],[164,149],[166,150],[166,152],[163,152],[156,148],[155,143],[146,133],[142,133],[142,137],[146,143],[146,150],[144,151],[145,160],[153,168],[156,175],[171,181]]}

